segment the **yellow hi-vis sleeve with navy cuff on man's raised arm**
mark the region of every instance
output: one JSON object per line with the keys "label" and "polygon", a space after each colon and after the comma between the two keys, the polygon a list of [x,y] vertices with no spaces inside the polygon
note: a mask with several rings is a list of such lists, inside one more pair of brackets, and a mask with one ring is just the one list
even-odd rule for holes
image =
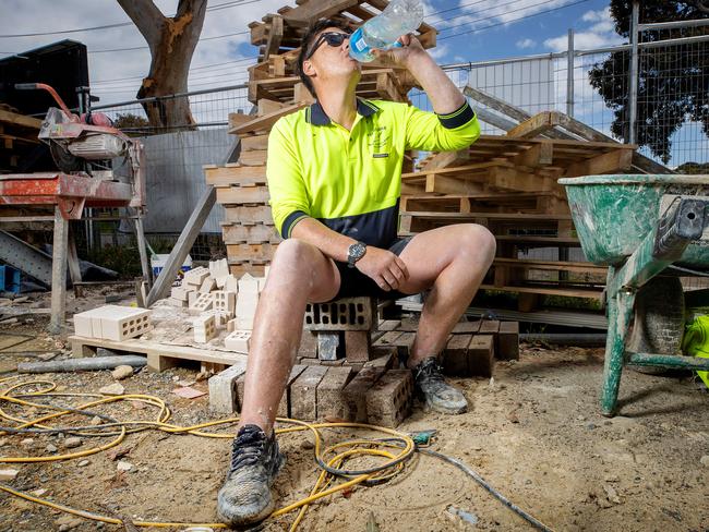
{"label": "yellow hi-vis sleeve with navy cuff on man's raised arm", "polygon": [[406,148],[455,152],[480,136],[478,117],[468,100],[448,114],[425,112],[409,106],[406,113]]}

